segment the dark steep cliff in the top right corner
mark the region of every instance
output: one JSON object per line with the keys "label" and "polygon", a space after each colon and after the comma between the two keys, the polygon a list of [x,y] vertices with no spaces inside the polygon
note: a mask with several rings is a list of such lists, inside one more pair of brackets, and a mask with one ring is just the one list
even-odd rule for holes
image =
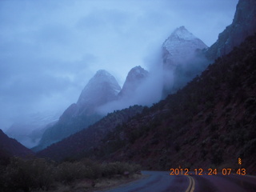
{"label": "dark steep cliff in the top right corner", "polygon": [[218,35],[217,42],[206,51],[206,57],[214,60],[229,54],[245,38],[256,32],[256,1],[239,0],[233,22]]}

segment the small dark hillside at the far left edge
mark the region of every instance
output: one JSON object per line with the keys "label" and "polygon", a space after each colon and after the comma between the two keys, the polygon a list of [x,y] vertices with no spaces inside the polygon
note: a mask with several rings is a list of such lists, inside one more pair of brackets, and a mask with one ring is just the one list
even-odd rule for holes
{"label": "small dark hillside at the far left edge", "polygon": [[5,158],[12,156],[26,157],[34,154],[31,150],[22,146],[14,138],[9,138],[2,130],[0,130],[0,162]]}

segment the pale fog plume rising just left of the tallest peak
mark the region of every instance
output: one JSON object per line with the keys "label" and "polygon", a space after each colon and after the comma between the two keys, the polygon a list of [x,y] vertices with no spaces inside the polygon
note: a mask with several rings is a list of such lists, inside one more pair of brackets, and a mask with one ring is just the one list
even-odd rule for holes
{"label": "pale fog plume rising just left of the tallest peak", "polygon": [[148,76],[138,84],[135,90],[119,95],[118,99],[98,107],[99,114],[106,115],[114,110],[122,110],[129,106],[152,106],[162,99],[163,71],[162,49],[156,46],[154,54],[145,58],[144,62],[149,70]]}

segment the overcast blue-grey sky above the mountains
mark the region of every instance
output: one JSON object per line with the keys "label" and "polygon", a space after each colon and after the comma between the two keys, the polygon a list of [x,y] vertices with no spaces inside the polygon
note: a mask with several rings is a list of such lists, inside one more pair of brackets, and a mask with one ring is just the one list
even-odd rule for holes
{"label": "overcast blue-grey sky above the mountains", "polygon": [[149,60],[179,26],[211,46],[237,3],[0,1],[0,129],[35,113],[61,114],[97,70],[108,70],[122,86],[132,67],[149,70]]}

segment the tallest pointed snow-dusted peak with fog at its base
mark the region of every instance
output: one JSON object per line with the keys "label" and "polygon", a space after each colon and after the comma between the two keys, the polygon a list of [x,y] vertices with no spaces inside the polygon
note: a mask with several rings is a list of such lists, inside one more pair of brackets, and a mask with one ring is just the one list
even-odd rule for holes
{"label": "tallest pointed snow-dusted peak with fog at its base", "polygon": [[186,85],[209,64],[202,50],[207,46],[181,26],[162,45],[164,96]]}

